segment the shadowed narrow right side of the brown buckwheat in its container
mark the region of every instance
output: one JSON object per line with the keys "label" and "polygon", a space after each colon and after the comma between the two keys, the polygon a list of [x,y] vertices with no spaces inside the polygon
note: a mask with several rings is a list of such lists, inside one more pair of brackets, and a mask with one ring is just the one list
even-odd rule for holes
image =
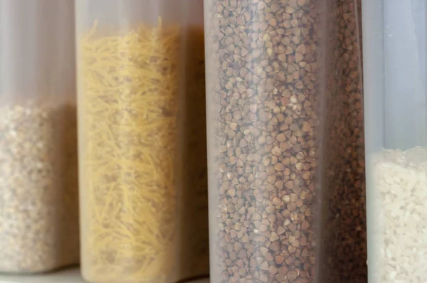
{"label": "shadowed narrow right side of the brown buckwheat in its container", "polygon": [[367,282],[361,1],[326,1],[320,282]]}

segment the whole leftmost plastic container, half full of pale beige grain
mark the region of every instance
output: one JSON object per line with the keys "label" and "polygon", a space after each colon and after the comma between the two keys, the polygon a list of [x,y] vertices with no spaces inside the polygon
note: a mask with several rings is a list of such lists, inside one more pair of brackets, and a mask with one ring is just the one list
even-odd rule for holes
{"label": "whole leftmost plastic container, half full of pale beige grain", "polygon": [[73,1],[0,1],[0,272],[79,261]]}

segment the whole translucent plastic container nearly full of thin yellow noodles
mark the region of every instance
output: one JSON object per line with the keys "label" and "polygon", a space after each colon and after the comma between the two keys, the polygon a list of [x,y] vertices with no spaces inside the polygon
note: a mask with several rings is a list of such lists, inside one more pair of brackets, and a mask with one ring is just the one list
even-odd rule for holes
{"label": "whole translucent plastic container nearly full of thin yellow noodles", "polygon": [[209,273],[203,1],[76,1],[82,272]]}

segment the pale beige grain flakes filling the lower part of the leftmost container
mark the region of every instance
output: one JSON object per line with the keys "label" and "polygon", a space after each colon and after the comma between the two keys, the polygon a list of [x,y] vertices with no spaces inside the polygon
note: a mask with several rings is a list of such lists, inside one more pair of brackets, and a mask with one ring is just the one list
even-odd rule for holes
{"label": "pale beige grain flakes filling the lower part of the leftmost container", "polygon": [[0,271],[78,263],[75,106],[0,107]]}

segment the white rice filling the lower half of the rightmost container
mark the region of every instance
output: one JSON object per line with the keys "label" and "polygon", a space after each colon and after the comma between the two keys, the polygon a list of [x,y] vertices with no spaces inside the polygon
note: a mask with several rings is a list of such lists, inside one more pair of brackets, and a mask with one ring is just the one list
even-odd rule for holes
{"label": "white rice filling the lower half of the rightmost container", "polygon": [[427,268],[427,150],[387,149],[372,157],[379,220],[376,282],[423,282]]}

